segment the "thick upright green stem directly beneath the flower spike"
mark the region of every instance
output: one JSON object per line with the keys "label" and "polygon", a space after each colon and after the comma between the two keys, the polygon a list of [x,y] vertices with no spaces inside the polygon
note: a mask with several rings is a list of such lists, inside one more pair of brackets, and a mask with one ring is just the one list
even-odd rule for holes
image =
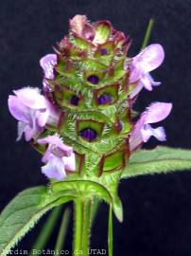
{"label": "thick upright green stem directly beneath the flower spike", "polygon": [[75,233],[73,255],[88,255],[91,228],[90,199],[78,198],[75,201]]}

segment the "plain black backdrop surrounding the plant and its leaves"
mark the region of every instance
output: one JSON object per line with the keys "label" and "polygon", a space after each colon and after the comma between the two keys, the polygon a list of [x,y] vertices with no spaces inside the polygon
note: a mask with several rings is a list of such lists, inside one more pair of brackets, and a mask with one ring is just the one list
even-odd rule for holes
{"label": "plain black backdrop surrounding the plant and its leaves", "polygon": [[[39,59],[67,34],[68,19],[87,14],[92,21],[109,19],[133,39],[130,56],[138,53],[150,17],[155,26],[150,43],[165,48],[165,63],[152,74],[163,82],[137,101],[142,111],[151,101],[171,101],[163,122],[171,147],[191,148],[191,2],[188,0],[1,0],[0,1],[0,210],[29,186],[46,184],[41,156],[24,140],[16,143],[16,121],[7,99],[13,89],[42,86]],[[147,147],[158,142],[153,138]],[[191,174],[161,174],[124,180],[119,194],[123,224],[114,221],[114,255],[191,255]],[[102,206],[93,229],[92,247],[106,248],[107,207]],[[41,222],[43,223],[43,222]],[[28,249],[41,224],[20,247]],[[58,227],[57,227],[58,228]],[[56,233],[56,232],[55,232]],[[66,247],[70,248],[72,226]],[[54,246],[54,239],[48,247]]]}

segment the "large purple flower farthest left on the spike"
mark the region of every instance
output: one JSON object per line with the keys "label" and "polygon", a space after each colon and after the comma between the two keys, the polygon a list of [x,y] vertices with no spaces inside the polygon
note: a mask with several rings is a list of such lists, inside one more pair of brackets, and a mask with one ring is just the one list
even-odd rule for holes
{"label": "large purple flower farthest left on the spike", "polygon": [[25,134],[26,141],[36,139],[43,132],[44,126],[57,125],[59,114],[49,101],[40,94],[38,88],[25,87],[13,91],[9,96],[9,112],[17,119],[17,141]]}

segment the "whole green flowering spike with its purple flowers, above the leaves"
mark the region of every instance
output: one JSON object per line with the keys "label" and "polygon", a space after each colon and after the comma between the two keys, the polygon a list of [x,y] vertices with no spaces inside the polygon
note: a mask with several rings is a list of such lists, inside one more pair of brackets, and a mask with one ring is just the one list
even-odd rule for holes
{"label": "whole green flowering spike with its purple flowers, above the leaves", "polygon": [[49,178],[61,180],[75,170],[96,176],[121,172],[130,152],[149,137],[165,140],[164,128],[150,124],[167,117],[170,103],[153,103],[135,125],[131,120],[141,89],[160,85],[149,72],[163,63],[164,49],[152,44],[129,58],[130,43],[109,21],[91,23],[76,15],[55,53],[40,60],[45,96],[23,88],[9,97],[9,111],[19,120],[18,139],[25,133],[26,140],[36,140]]}

